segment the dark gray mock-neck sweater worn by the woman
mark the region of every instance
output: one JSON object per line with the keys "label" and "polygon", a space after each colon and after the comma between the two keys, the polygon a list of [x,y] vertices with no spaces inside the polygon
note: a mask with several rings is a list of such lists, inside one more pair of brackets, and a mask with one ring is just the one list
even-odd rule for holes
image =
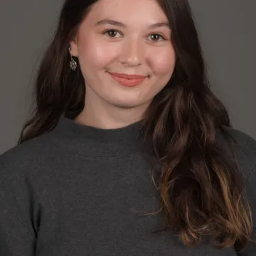
{"label": "dark gray mock-neck sweater worn by the woman", "polygon": [[[186,247],[170,233],[151,232],[161,220],[144,213],[156,211],[159,198],[138,129],[139,122],[107,130],[61,117],[53,131],[2,154],[0,255],[238,255],[233,247]],[[256,142],[230,132],[242,146],[236,151],[256,210]],[[256,244],[242,255],[255,256]]]}

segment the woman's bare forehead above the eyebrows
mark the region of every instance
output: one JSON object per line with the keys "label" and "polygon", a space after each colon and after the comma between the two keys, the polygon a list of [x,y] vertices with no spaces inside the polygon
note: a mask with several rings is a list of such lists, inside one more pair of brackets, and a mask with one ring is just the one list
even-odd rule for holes
{"label": "woman's bare forehead above the eyebrows", "polygon": [[156,0],[99,0],[92,6],[86,20],[95,23],[104,18],[122,21],[127,26],[168,21]]}

